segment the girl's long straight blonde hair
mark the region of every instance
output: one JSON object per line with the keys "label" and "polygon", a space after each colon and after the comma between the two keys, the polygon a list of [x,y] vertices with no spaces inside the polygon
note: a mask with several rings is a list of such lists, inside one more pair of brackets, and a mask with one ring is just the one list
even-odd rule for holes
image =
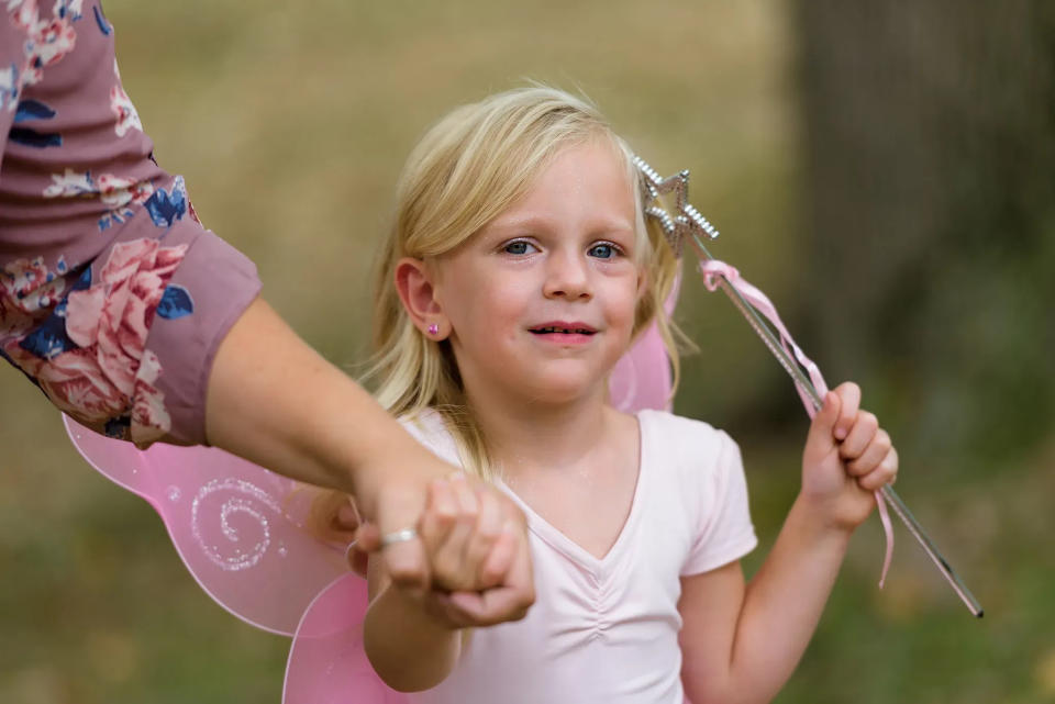
{"label": "girl's long straight blonde hair", "polygon": [[[396,191],[396,213],[374,280],[374,359],[364,381],[396,416],[435,409],[458,448],[463,465],[493,476],[487,443],[474,422],[451,343],[422,335],[395,286],[402,257],[427,259],[451,252],[522,197],[562,149],[590,139],[608,142],[625,164],[636,200],[636,257],[644,291],[634,320],[636,336],[653,320],[679,376],[674,327],[664,309],[677,276],[677,259],[663,231],[645,222],[633,153],[587,100],[531,86],[463,105],[436,123],[408,158]],[[649,219],[651,220],[651,219]]]}

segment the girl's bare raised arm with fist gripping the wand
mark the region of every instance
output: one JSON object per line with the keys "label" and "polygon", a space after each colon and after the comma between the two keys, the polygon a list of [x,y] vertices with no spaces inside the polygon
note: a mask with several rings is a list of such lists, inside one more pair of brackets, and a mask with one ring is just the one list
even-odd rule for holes
{"label": "girl's bare raised arm with fist gripping the wand", "polygon": [[889,437],[858,403],[853,384],[825,398],[802,491],[751,583],[740,562],[681,580],[681,679],[696,704],[768,702],[802,657],[871,492],[897,473]]}

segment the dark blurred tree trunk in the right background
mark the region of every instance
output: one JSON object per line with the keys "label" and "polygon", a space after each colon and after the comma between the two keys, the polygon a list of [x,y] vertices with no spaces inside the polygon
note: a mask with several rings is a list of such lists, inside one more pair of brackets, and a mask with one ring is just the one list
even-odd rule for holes
{"label": "dark blurred tree trunk in the right background", "polygon": [[1055,3],[793,7],[822,366],[924,457],[1029,447],[1055,410]]}

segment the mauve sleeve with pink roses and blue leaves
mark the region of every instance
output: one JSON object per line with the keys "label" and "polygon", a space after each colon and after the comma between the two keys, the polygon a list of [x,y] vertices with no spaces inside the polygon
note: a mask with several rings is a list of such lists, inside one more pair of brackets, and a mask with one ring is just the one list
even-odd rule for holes
{"label": "mauve sleeve with pink roses and blue leaves", "polygon": [[97,0],[0,0],[0,356],[81,423],[204,443],[256,268],[154,160]]}

